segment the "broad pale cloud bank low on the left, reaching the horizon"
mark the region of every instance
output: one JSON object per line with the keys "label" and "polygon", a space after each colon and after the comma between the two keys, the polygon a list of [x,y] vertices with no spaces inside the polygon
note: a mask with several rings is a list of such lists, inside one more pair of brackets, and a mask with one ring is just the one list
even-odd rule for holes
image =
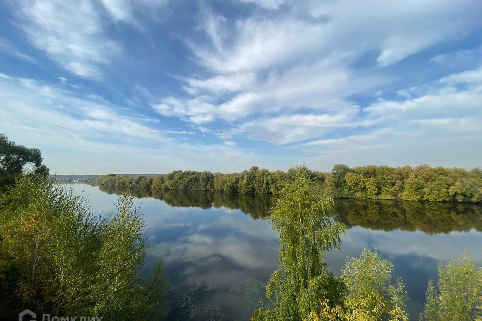
{"label": "broad pale cloud bank low on the left, reaching the horizon", "polygon": [[2,132],[42,150],[53,173],[164,173],[175,169],[232,171],[260,158],[232,144],[179,142],[146,117],[95,94],[0,74]]}

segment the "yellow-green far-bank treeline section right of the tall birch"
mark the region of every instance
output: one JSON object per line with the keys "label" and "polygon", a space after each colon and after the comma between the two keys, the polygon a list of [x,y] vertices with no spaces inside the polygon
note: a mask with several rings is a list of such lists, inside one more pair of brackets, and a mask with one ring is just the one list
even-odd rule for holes
{"label": "yellow-green far-bank treeline section right of the tall birch", "polygon": [[337,197],[409,201],[482,201],[482,169],[432,168],[429,165],[358,166],[337,164],[332,170]]}

